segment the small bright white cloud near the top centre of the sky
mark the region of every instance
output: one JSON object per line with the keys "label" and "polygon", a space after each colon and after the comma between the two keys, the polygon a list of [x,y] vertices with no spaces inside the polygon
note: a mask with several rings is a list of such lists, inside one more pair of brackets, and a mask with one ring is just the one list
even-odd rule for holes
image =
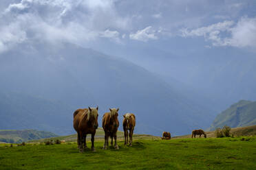
{"label": "small bright white cloud near the top centre of the sky", "polygon": [[138,30],[138,32],[136,33],[131,33],[129,35],[129,37],[132,40],[140,40],[140,41],[144,41],[147,42],[148,40],[156,40],[158,39],[158,37],[156,36],[156,31],[154,29],[152,29],[151,26],[146,27],[145,29],[142,30]]}

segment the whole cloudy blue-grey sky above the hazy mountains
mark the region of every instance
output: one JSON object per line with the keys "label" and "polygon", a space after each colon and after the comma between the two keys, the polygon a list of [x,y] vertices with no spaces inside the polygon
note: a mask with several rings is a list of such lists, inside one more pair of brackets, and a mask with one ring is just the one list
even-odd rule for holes
{"label": "whole cloudy blue-grey sky above the hazy mountains", "polygon": [[256,52],[256,1],[1,0],[0,11],[0,53],[38,40],[103,51],[102,42],[123,48],[180,40],[180,48]]}

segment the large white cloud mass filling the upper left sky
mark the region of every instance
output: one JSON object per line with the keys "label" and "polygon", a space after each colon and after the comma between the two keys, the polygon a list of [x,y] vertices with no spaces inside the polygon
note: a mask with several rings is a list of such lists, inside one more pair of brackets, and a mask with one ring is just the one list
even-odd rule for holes
{"label": "large white cloud mass filling the upper left sky", "polygon": [[101,37],[118,40],[117,29],[127,29],[128,22],[111,0],[21,0],[0,14],[0,50],[35,39],[80,45]]}

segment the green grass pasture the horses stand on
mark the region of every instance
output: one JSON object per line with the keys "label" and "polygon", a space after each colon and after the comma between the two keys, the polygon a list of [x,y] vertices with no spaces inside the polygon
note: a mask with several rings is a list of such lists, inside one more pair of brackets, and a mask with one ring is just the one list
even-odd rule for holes
{"label": "green grass pasture the horses stand on", "polygon": [[95,144],[83,154],[76,143],[1,144],[0,169],[256,169],[256,137],[120,141],[119,150]]}

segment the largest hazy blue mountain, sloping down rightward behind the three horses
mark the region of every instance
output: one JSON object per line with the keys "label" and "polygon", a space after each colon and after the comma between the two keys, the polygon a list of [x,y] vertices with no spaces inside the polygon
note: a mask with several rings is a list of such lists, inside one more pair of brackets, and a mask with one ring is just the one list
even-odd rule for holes
{"label": "largest hazy blue mountain, sloping down rightward behind the three horses", "polygon": [[[39,120],[49,125],[42,130],[47,127],[58,134],[58,127],[61,130],[70,128],[67,133],[72,130],[70,124],[76,108],[96,105],[100,108],[99,124],[109,108],[120,108],[120,121],[122,114],[134,112],[136,132],[140,134],[159,135],[162,131],[173,135],[186,134],[193,128],[208,127],[214,118],[213,112],[172,88],[162,77],[127,60],[67,43],[27,43],[1,53],[0,79],[3,80],[0,89],[6,93],[23,93],[62,103],[52,107],[54,112],[48,110],[47,105],[34,107],[29,102],[22,105],[25,109],[39,107],[48,110],[40,114]],[[12,103],[12,107],[16,105]],[[32,117],[33,111],[30,112],[30,115],[23,112],[24,119]],[[19,110],[9,114],[17,115]],[[1,117],[6,117],[5,111],[1,111]],[[55,121],[57,117],[61,120]],[[6,119],[0,119],[0,124],[2,120]],[[28,119],[27,128],[34,127],[33,120]],[[10,127],[20,124],[22,121],[6,123]]]}

